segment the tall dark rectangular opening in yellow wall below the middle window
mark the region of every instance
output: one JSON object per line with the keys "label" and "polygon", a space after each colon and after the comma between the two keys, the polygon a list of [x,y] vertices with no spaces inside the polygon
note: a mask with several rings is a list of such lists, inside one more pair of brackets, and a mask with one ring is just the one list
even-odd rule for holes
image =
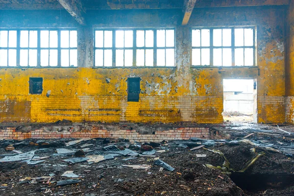
{"label": "tall dark rectangular opening in yellow wall below the middle window", "polygon": [[127,101],[138,102],[140,98],[140,80],[141,78],[127,79]]}

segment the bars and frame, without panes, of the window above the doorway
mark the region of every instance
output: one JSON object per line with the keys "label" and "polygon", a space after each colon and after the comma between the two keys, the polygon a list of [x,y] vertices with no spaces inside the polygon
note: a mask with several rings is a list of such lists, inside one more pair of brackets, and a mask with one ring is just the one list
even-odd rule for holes
{"label": "bars and frame, without panes, of the window above the doorway", "polygon": [[[209,46],[193,46],[192,45],[192,51],[193,49],[200,49],[200,65],[193,65],[193,61],[192,61],[192,66],[214,66],[213,65],[213,55],[214,55],[214,52],[213,52],[213,49],[216,49],[216,48],[230,48],[232,49],[232,65],[230,66],[237,66],[237,67],[242,67],[242,66],[256,66],[257,63],[256,63],[256,26],[230,26],[230,27],[226,27],[226,26],[221,26],[221,27],[201,27],[201,28],[196,28],[196,27],[193,27],[192,28],[192,31],[193,30],[200,30],[200,43],[201,43],[201,30],[203,29],[208,29],[209,30],[209,38],[210,38],[210,44]],[[214,46],[213,45],[213,30],[214,29],[231,29],[231,46]],[[235,29],[243,29],[243,42],[244,42],[244,45],[243,46],[235,46]],[[253,29],[253,45],[252,46],[245,46],[245,33],[244,33],[244,29]],[[193,34],[191,33],[191,38],[193,39]],[[221,38],[221,43],[222,43],[222,38]],[[209,48],[210,49],[210,65],[201,65],[201,49],[204,49],[204,48]],[[244,51],[243,51],[243,65],[235,65],[235,49],[237,48],[243,48]],[[253,49],[253,65],[245,65],[245,48],[252,48]],[[193,59],[193,55],[192,56],[192,59]],[[217,66],[224,66],[223,65],[223,59],[222,59],[222,56],[221,56],[221,65],[216,65]],[[230,67],[230,66],[227,66],[227,67]]]}

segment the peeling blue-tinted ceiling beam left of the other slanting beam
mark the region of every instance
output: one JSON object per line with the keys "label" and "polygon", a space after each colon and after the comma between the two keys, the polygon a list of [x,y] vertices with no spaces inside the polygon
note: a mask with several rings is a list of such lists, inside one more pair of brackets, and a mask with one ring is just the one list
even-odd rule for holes
{"label": "peeling blue-tinted ceiling beam left of the other slanting beam", "polygon": [[74,20],[81,25],[86,25],[83,17],[84,8],[81,0],[58,0],[59,3],[70,13]]}

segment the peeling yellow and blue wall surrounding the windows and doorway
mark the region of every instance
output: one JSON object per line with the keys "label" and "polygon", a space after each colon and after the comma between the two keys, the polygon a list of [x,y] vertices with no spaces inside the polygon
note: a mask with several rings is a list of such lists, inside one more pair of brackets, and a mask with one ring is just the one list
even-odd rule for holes
{"label": "peeling yellow and blue wall surrounding the windows and doorway", "polygon": [[[41,12],[0,11],[0,27],[77,27],[65,11]],[[0,121],[221,123],[222,79],[256,78],[258,122],[283,123],[284,16],[283,6],[195,9],[180,27],[180,9],[89,11],[78,28],[78,68],[0,69]],[[256,25],[258,67],[191,67],[191,27],[220,25]],[[98,27],[175,27],[176,67],[91,68]],[[42,95],[28,94],[29,77],[44,78]],[[140,102],[127,102],[127,77],[142,78]]]}

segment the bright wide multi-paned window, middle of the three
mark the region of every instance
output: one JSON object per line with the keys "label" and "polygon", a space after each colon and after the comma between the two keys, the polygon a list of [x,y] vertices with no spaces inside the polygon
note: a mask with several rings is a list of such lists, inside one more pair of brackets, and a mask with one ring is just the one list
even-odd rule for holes
{"label": "bright wide multi-paned window, middle of the three", "polygon": [[174,66],[174,29],[96,30],[95,66]]}

